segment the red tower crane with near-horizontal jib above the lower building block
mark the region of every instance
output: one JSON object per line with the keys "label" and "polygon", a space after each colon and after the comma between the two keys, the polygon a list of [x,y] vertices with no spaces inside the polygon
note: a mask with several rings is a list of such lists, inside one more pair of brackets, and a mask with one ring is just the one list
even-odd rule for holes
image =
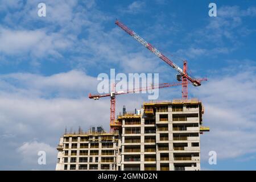
{"label": "red tower crane with near-horizontal jib above the lower building block", "polygon": [[[199,81],[205,81],[205,78],[200,79]],[[121,94],[128,94],[128,93],[139,93],[145,90],[154,90],[154,89],[161,89],[161,88],[167,88],[170,86],[177,86],[177,85],[182,85],[180,82],[175,82],[175,83],[163,83],[163,84],[158,84],[158,85],[152,85],[152,86],[146,86],[146,87],[141,87],[141,88],[135,88],[135,89],[129,89],[125,91],[118,91],[115,92],[115,86],[112,88],[111,93],[107,94],[94,94],[92,95],[89,93],[89,98],[93,98],[94,100],[98,100],[101,97],[110,97],[110,129],[116,130],[118,126],[121,126],[121,123],[117,123],[115,121],[115,96],[121,95]]]}

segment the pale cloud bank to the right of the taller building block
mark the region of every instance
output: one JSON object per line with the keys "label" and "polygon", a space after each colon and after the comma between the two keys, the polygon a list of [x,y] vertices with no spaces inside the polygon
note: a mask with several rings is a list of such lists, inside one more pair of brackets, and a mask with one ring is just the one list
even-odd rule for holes
{"label": "pale cloud bank to the right of the taller building block", "polygon": [[210,77],[193,90],[205,106],[204,125],[210,126],[210,132],[201,136],[204,160],[211,150],[220,160],[256,152],[256,73],[250,67],[222,69],[220,77]]}

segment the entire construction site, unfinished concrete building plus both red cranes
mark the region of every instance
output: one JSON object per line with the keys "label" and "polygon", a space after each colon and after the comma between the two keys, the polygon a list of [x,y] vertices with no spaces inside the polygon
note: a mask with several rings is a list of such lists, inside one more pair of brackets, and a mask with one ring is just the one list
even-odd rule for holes
{"label": "entire construction site, unfinished concrete building plus both red cranes", "polygon": [[[188,75],[187,61],[183,68],[146,42],[125,24],[115,24],[154,53],[177,72],[175,83],[163,83],[108,94],[89,94],[90,99],[110,97],[110,132],[101,126],[88,132],[68,133],[57,146],[56,170],[110,170],[110,171],[199,171],[200,134],[209,131],[203,126],[204,106],[197,98],[188,98],[188,85],[200,86],[207,78]],[[119,94],[143,90],[181,86],[178,100],[145,101],[133,113],[126,111],[116,116],[115,102]],[[100,121],[99,121],[100,122]]]}

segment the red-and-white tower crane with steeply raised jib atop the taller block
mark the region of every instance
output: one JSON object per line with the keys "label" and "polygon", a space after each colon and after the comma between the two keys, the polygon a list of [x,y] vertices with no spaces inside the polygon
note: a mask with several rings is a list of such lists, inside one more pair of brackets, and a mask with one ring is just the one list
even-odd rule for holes
{"label": "red-and-white tower crane with steeply raised jib atop the taller block", "polygon": [[[144,47],[146,47],[148,50],[150,50],[152,53],[154,53],[156,56],[158,56],[160,59],[162,59],[164,62],[166,62],[168,65],[170,65],[172,68],[174,68],[179,75],[177,75],[177,80],[182,81],[182,98],[183,100],[188,99],[188,80],[194,85],[194,86],[200,86],[201,82],[199,79],[192,78],[187,73],[187,61],[184,60],[183,62],[183,69],[178,67],[174,62],[172,62],[168,57],[164,56],[161,52],[158,51],[155,47],[153,47],[150,43],[146,42],[141,36],[136,34],[133,30],[128,28],[125,24],[119,22],[118,20],[115,20],[115,24],[117,24],[118,27],[122,28],[122,30],[126,31],[127,34],[131,35],[135,40],[137,40],[139,43],[141,43]],[[204,80],[207,80],[207,78],[204,78]]]}

